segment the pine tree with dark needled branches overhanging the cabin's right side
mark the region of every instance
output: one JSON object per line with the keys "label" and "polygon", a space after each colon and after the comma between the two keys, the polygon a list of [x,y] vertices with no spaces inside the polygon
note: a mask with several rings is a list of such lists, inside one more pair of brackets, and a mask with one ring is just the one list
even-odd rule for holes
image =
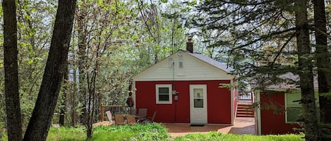
{"label": "pine tree with dark needled branches overhanging the cabin's right side", "polygon": [[209,47],[227,53],[239,79],[253,78],[260,90],[284,82],[281,74],[299,74],[306,140],[319,140],[307,6],[302,0],[203,1],[190,24],[210,30]]}

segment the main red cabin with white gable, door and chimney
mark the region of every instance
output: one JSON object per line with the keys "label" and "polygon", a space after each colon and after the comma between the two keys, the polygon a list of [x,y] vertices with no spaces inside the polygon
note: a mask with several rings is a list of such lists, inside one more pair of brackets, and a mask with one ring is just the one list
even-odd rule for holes
{"label": "main red cabin with white gable, door and chimney", "polygon": [[191,124],[234,124],[236,89],[231,68],[200,53],[177,51],[133,76],[136,109],[157,111],[156,122]]}

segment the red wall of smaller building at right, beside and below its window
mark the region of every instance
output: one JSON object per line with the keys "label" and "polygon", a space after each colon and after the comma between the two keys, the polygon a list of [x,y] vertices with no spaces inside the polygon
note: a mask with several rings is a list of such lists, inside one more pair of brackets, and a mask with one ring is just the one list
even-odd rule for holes
{"label": "red wall of smaller building at right, beside and below its window", "polygon": [[[300,128],[296,123],[285,123],[285,99],[284,93],[265,94],[260,93],[261,105],[261,134],[287,134],[299,133],[293,128]],[[277,114],[272,109],[274,105],[277,107]],[[279,112],[278,112],[279,110]]]}

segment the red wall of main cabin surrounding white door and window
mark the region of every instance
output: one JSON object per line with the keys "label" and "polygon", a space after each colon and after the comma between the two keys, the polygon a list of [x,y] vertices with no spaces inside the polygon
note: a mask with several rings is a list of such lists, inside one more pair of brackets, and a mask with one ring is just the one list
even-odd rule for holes
{"label": "red wall of main cabin surrounding white door and window", "polygon": [[230,81],[175,81],[173,89],[179,92],[178,101],[156,104],[155,85],[172,81],[136,81],[136,109],[147,108],[148,116],[157,111],[156,122],[190,123],[190,84],[207,84],[207,123],[231,124],[231,91],[219,88],[219,83]]}

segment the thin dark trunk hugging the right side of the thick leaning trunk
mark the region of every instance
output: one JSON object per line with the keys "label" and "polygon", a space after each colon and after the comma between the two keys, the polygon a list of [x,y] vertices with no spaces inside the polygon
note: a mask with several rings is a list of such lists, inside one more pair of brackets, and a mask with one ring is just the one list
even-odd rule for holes
{"label": "thin dark trunk hugging the right side of the thick leaning trunk", "polygon": [[68,93],[68,64],[66,65],[66,72],[64,72],[64,86],[62,88],[62,100],[60,107],[60,116],[59,116],[59,124],[60,126],[64,126],[64,116],[66,115],[66,95]]}

